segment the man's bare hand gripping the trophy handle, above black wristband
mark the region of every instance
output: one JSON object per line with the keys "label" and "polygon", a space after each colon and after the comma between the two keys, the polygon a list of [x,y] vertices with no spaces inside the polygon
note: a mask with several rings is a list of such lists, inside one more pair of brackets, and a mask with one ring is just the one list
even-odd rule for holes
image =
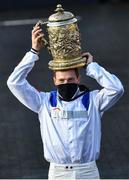
{"label": "man's bare hand gripping the trophy handle, above black wristband", "polygon": [[40,51],[44,47],[44,34],[41,27],[36,24],[32,30],[32,48]]}

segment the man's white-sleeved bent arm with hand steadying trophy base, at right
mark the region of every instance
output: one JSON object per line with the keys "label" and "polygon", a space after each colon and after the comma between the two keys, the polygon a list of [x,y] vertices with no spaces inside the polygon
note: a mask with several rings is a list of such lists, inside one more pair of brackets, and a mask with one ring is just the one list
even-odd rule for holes
{"label": "man's white-sleeved bent arm with hand steadying trophy base, at right", "polygon": [[88,65],[86,74],[94,78],[102,87],[97,91],[94,99],[100,111],[106,111],[113,106],[123,95],[124,89],[120,80],[113,74],[106,71],[96,62],[92,62],[93,57],[88,53]]}

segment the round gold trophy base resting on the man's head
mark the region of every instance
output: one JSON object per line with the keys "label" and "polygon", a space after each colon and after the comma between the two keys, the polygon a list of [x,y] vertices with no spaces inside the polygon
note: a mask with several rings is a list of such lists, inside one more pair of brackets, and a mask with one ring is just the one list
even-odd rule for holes
{"label": "round gold trophy base resting on the man's head", "polygon": [[58,70],[67,70],[67,69],[74,69],[74,68],[81,68],[86,65],[86,58],[76,58],[72,60],[52,60],[48,63],[49,69],[53,71]]}

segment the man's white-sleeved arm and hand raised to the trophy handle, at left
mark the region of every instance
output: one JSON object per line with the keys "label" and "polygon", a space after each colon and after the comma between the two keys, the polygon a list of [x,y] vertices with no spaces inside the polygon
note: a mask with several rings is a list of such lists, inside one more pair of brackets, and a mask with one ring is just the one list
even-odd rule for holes
{"label": "man's white-sleeved arm and hand raised to the trophy handle, at left", "polygon": [[28,83],[26,77],[33,68],[35,61],[38,60],[38,52],[43,46],[41,41],[42,37],[43,33],[40,27],[35,26],[32,30],[31,51],[26,53],[7,80],[7,85],[14,96],[34,112],[40,110],[41,96],[40,93]]}

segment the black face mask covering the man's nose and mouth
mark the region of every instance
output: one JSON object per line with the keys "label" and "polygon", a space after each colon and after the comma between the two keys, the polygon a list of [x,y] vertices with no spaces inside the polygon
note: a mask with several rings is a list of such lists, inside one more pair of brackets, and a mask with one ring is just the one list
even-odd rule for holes
{"label": "black face mask covering the man's nose and mouth", "polygon": [[64,101],[70,101],[76,93],[77,88],[78,84],[75,83],[60,84],[57,86],[58,93]]}

